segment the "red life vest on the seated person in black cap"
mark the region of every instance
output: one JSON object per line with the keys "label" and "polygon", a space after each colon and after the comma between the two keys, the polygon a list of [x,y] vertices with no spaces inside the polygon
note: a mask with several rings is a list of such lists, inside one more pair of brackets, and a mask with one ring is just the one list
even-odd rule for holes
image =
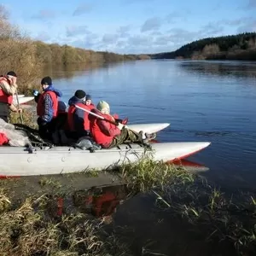
{"label": "red life vest on the seated person in black cap", "polygon": [[[85,110],[90,111],[90,106],[84,105],[84,103],[76,103],[77,106],[80,108],[84,108]],[[80,117],[80,114],[82,112],[82,118]],[[83,127],[80,125],[81,121],[83,122]],[[88,113],[86,111],[80,110],[79,108],[76,108],[74,105],[71,105],[68,108],[68,113],[67,113],[67,122],[69,126],[70,131],[89,131],[90,130],[90,121],[88,119]],[[81,127],[79,127],[81,126]]]}

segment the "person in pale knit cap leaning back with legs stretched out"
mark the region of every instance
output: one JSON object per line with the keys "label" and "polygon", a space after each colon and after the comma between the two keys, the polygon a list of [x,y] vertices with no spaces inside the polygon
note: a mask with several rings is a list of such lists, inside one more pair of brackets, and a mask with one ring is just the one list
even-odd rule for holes
{"label": "person in pale knit cap leaning back with legs stretched out", "polygon": [[113,148],[122,143],[143,143],[148,145],[148,140],[144,136],[143,131],[137,133],[130,129],[126,129],[125,125],[115,124],[115,119],[110,114],[108,102],[101,101],[96,108],[91,110],[103,119],[89,114],[90,119],[90,134],[95,142],[102,148]]}

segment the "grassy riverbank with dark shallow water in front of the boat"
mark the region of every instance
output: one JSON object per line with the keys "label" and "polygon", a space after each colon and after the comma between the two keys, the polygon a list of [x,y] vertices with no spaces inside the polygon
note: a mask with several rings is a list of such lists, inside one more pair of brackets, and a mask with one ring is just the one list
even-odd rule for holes
{"label": "grassy riverbank with dark shallow water in front of the boat", "polygon": [[110,174],[2,180],[0,253],[253,255],[255,198],[150,159]]}

